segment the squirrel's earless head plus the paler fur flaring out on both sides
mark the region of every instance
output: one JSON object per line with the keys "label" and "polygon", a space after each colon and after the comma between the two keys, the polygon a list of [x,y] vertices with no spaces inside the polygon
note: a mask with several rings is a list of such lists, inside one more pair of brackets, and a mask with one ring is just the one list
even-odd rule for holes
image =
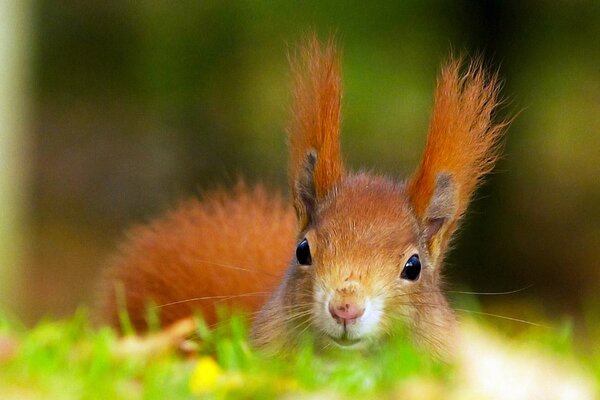
{"label": "squirrel's earless head plus the paler fur flaring out on both sides", "polygon": [[407,185],[350,175],[312,209],[284,282],[255,320],[254,343],[286,349],[310,332],[319,348],[364,348],[401,327],[447,357],[454,314]]}

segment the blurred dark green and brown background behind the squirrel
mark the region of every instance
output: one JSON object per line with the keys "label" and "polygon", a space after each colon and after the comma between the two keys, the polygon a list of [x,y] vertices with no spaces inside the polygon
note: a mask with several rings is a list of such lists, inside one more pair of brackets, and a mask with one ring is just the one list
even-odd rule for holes
{"label": "blurred dark green and brown background behind the squirrel", "polygon": [[13,17],[0,56],[0,299],[25,322],[90,304],[127,227],[178,199],[239,177],[287,190],[286,52],[310,29],[343,44],[353,169],[410,174],[451,52],[498,69],[502,114],[518,116],[449,256],[448,287],[524,289],[481,296],[516,318],[598,314],[600,2],[2,7]]}

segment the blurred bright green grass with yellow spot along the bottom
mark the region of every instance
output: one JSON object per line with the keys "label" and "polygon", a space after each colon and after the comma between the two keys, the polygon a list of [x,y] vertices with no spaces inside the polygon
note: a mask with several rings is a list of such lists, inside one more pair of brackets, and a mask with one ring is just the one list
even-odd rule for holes
{"label": "blurred bright green grass with yellow spot along the bottom", "polygon": [[[455,367],[431,361],[401,336],[369,354],[315,355],[307,344],[295,355],[278,359],[250,347],[247,327],[242,316],[228,318],[215,330],[199,323],[199,345],[191,356],[179,351],[123,355],[115,350],[116,333],[91,328],[85,311],[29,330],[0,316],[0,398],[433,399],[444,398],[458,384]],[[600,378],[600,353],[580,357],[572,337],[565,325],[528,328],[517,340],[577,358]]]}

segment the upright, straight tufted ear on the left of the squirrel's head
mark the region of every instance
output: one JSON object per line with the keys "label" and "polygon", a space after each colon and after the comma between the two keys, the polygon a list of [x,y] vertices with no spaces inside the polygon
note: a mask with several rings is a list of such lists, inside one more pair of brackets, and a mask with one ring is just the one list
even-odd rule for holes
{"label": "upright, straight tufted ear on the left of the squirrel's head", "polygon": [[340,63],[332,40],[315,35],[290,57],[294,78],[289,180],[300,230],[310,224],[316,205],[344,175],[340,152]]}

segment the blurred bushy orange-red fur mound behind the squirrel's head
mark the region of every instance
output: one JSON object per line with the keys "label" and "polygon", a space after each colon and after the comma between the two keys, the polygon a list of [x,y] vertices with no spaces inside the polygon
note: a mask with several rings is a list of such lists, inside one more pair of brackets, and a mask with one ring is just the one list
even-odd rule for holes
{"label": "blurred bushy orange-red fur mound behind the squirrel's head", "polygon": [[[119,326],[116,293],[121,282],[127,311],[146,329],[146,307],[157,308],[163,325],[201,311],[215,322],[215,305],[256,311],[281,280],[294,249],[294,213],[280,196],[262,187],[238,185],[202,201],[190,199],[164,217],[130,231],[104,290],[104,319]],[[235,296],[247,296],[236,298]],[[233,296],[231,301],[221,297]],[[204,300],[192,300],[207,297]]]}

